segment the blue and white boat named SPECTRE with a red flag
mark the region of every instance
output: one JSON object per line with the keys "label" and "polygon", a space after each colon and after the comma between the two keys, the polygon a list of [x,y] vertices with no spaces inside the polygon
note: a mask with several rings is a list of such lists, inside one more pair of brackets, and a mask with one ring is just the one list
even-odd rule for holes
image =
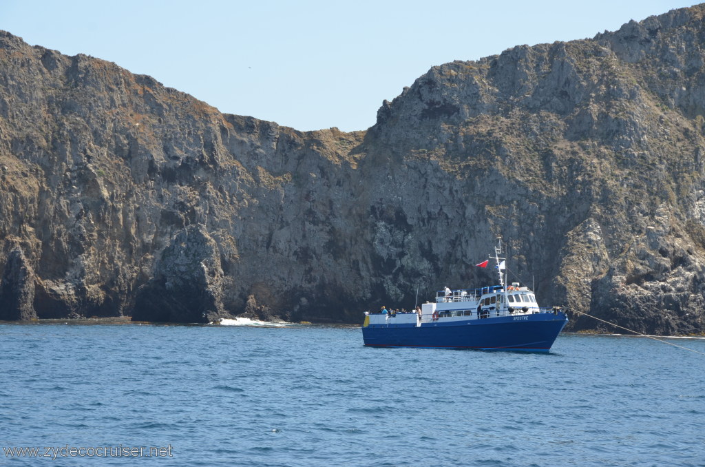
{"label": "blue and white boat named SPECTRE with a red flag", "polygon": [[[376,347],[476,348],[547,352],[568,323],[559,307],[539,307],[534,292],[506,284],[501,241],[491,260],[499,285],[436,292],[432,302],[408,313],[365,313],[364,345]],[[489,260],[478,266],[486,267]],[[383,307],[384,308],[384,307]]]}

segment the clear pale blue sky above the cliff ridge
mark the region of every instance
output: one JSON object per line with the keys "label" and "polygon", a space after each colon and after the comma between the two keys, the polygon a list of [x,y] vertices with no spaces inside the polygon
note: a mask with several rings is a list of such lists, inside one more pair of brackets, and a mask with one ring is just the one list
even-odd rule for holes
{"label": "clear pale blue sky above the cliff ridge", "polygon": [[434,65],[617,30],[677,0],[0,0],[0,29],[114,61],[228,114],[364,130]]}

